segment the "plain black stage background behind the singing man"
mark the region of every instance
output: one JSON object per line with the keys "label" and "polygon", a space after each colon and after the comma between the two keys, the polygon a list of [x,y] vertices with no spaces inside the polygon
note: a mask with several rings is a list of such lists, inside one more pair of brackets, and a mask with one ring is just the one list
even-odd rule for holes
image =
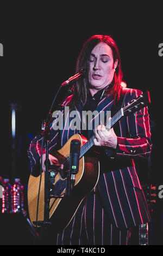
{"label": "plain black stage background behind the singing man", "polygon": [[[156,188],[162,179],[162,67],[163,43],[160,7],[138,4],[116,7],[106,3],[80,2],[74,7],[65,3],[10,3],[0,10],[1,85],[1,170],[3,178],[12,176],[11,110],[16,111],[16,173],[26,187],[30,175],[27,148],[30,139],[40,132],[55,93],[61,83],[75,72],[78,54],[93,34],[110,34],[120,50],[123,80],[130,88],[151,94],[149,114],[152,124],[153,152],[151,181]],[[64,94],[64,93],[63,93]],[[148,166],[140,162],[142,172]],[[146,169],[146,170],[145,170]],[[143,175],[142,175],[143,176]],[[162,244],[162,201],[157,196],[153,217],[153,243]],[[158,222],[158,223],[157,223]],[[160,235],[158,235],[160,234]]]}

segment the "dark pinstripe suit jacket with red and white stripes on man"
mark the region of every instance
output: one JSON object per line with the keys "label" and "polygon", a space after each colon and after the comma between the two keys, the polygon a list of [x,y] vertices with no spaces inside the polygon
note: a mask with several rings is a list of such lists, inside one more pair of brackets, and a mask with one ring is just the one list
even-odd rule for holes
{"label": "dark pinstripe suit jacket with red and white stripes on man", "polygon": [[[124,89],[126,97],[124,106],[131,99],[140,96],[140,90]],[[68,97],[64,105],[68,105],[71,96]],[[113,105],[111,97],[103,97],[98,105],[97,111],[109,111]],[[82,122],[83,105],[80,103],[76,110],[78,111],[78,121]],[[51,134],[49,143],[49,153],[62,147],[74,133],[82,133],[81,127],[71,129],[74,126],[73,117],[64,116],[64,124],[62,129],[54,130],[55,122],[51,124]],[[95,118],[91,122],[95,124]],[[151,153],[152,142],[149,127],[149,115],[147,107],[130,116],[123,116],[118,121],[116,135],[118,140],[117,150],[102,149],[99,154],[101,160],[101,174],[96,186],[101,195],[102,205],[109,216],[112,224],[117,228],[130,228],[135,225],[151,221],[148,211],[145,195],[143,194],[139,178],[136,173],[134,158],[148,157]],[[92,130],[88,131],[88,135],[92,134]],[[45,150],[43,150],[45,153]],[[41,156],[41,138],[36,136],[30,143],[28,148],[28,156],[34,170]],[[103,164],[105,163],[105,164]]]}

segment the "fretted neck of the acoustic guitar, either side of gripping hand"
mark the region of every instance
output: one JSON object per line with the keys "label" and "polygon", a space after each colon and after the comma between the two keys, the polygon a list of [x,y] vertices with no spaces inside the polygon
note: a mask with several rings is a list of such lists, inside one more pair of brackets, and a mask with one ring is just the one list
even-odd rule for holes
{"label": "fretted neck of the acoustic guitar, either side of gripping hand", "polygon": [[[106,129],[110,129],[114,126],[114,124],[120,120],[123,116],[123,108],[119,110],[114,117],[111,118],[106,124]],[[96,138],[95,134],[91,136],[91,138],[80,148],[80,158],[84,156],[84,154],[90,150],[90,148],[94,145],[93,140]]]}

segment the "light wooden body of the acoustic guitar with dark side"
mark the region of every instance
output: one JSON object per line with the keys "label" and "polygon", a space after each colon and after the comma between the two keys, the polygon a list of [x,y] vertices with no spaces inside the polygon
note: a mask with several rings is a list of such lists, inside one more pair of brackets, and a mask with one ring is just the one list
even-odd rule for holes
{"label": "light wooden body of the acoustic guitar with dark side", "polygon": [[[74,134],[66,144],[58,151],[53,152],[55,157],[58,158],[60,163],[63,163],[67,157],[70,156],[70,145],[71,140],[80,140],[81,146],[87,141],[83,136],[79,134]],[[89,194],[93,188],[96,186],[99,177],[99,162],[97,158],[84,156],[79,159],[79,170],[76,175],[76,180],[74,187],[71,190],[71,194],[63,198],[51,198],[49,202],[49,218],[54,224],[55,231],[58,233],[65,229],[73,218],[75,212],[77,211],[80,203],[87,194]],[[36,221],[37,212],[37,198],[39,192],[40,175],[34,177],[30,175],[28,181],[28,211],[30,221]],[[66,178],[62,178],[58,172],[55,175],[54,194],[55,196],[60,196],[65,193]],[[44,194],[45,194],[45,173],[42,172],[41,175],[41,187],[40,187],[40,197],[39,197],[39,207],[38,207],[38,221],[43,221],[44,219]],[[34,225],[34,224],[33,224]]]}

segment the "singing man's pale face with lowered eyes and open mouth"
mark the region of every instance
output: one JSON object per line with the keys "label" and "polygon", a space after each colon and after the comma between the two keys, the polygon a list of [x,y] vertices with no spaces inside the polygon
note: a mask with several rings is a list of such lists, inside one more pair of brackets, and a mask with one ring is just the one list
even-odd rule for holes
{"label": "singing man's pale face with lowered eyes and open mouth", "polygon": [[112,50],[108,44],[97,44],[90,55],[89,82],[91,87],[101,90],[109,85],[114,77],[118,61],[114,63]]}

